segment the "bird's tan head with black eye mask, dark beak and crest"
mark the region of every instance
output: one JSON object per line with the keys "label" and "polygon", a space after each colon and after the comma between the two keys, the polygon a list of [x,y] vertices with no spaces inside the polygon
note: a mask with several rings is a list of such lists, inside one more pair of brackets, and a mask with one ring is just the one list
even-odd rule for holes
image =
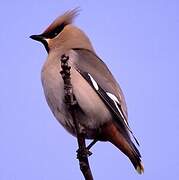
{"label": "bird's tan head with black eye mask, dark beak and crest", "polygon": [[93,50],[85,33],[72,24],[78,12],[78,8],[67,11],[55,19],[42,34],[32,35],[30,38],[41,42],[48,53],[58,48],[67,50],[72,48]]}

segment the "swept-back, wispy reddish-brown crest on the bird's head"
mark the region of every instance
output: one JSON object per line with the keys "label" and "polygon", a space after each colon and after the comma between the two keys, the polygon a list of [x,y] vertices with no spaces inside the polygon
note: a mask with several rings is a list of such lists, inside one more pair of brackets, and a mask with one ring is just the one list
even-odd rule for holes
{"label": "swept-back, wispy reddish-brown crest on the bird's head", "polygon": [[80,9],[77,7],[56,18],[52,24],[50,24],[50,26],[42,33],[43,36],[48,37],[50,34],[53,34],[52,32],[54,31],[62,31],[66,25],[73,22],[74,18],[79,14],[79,10]]}

